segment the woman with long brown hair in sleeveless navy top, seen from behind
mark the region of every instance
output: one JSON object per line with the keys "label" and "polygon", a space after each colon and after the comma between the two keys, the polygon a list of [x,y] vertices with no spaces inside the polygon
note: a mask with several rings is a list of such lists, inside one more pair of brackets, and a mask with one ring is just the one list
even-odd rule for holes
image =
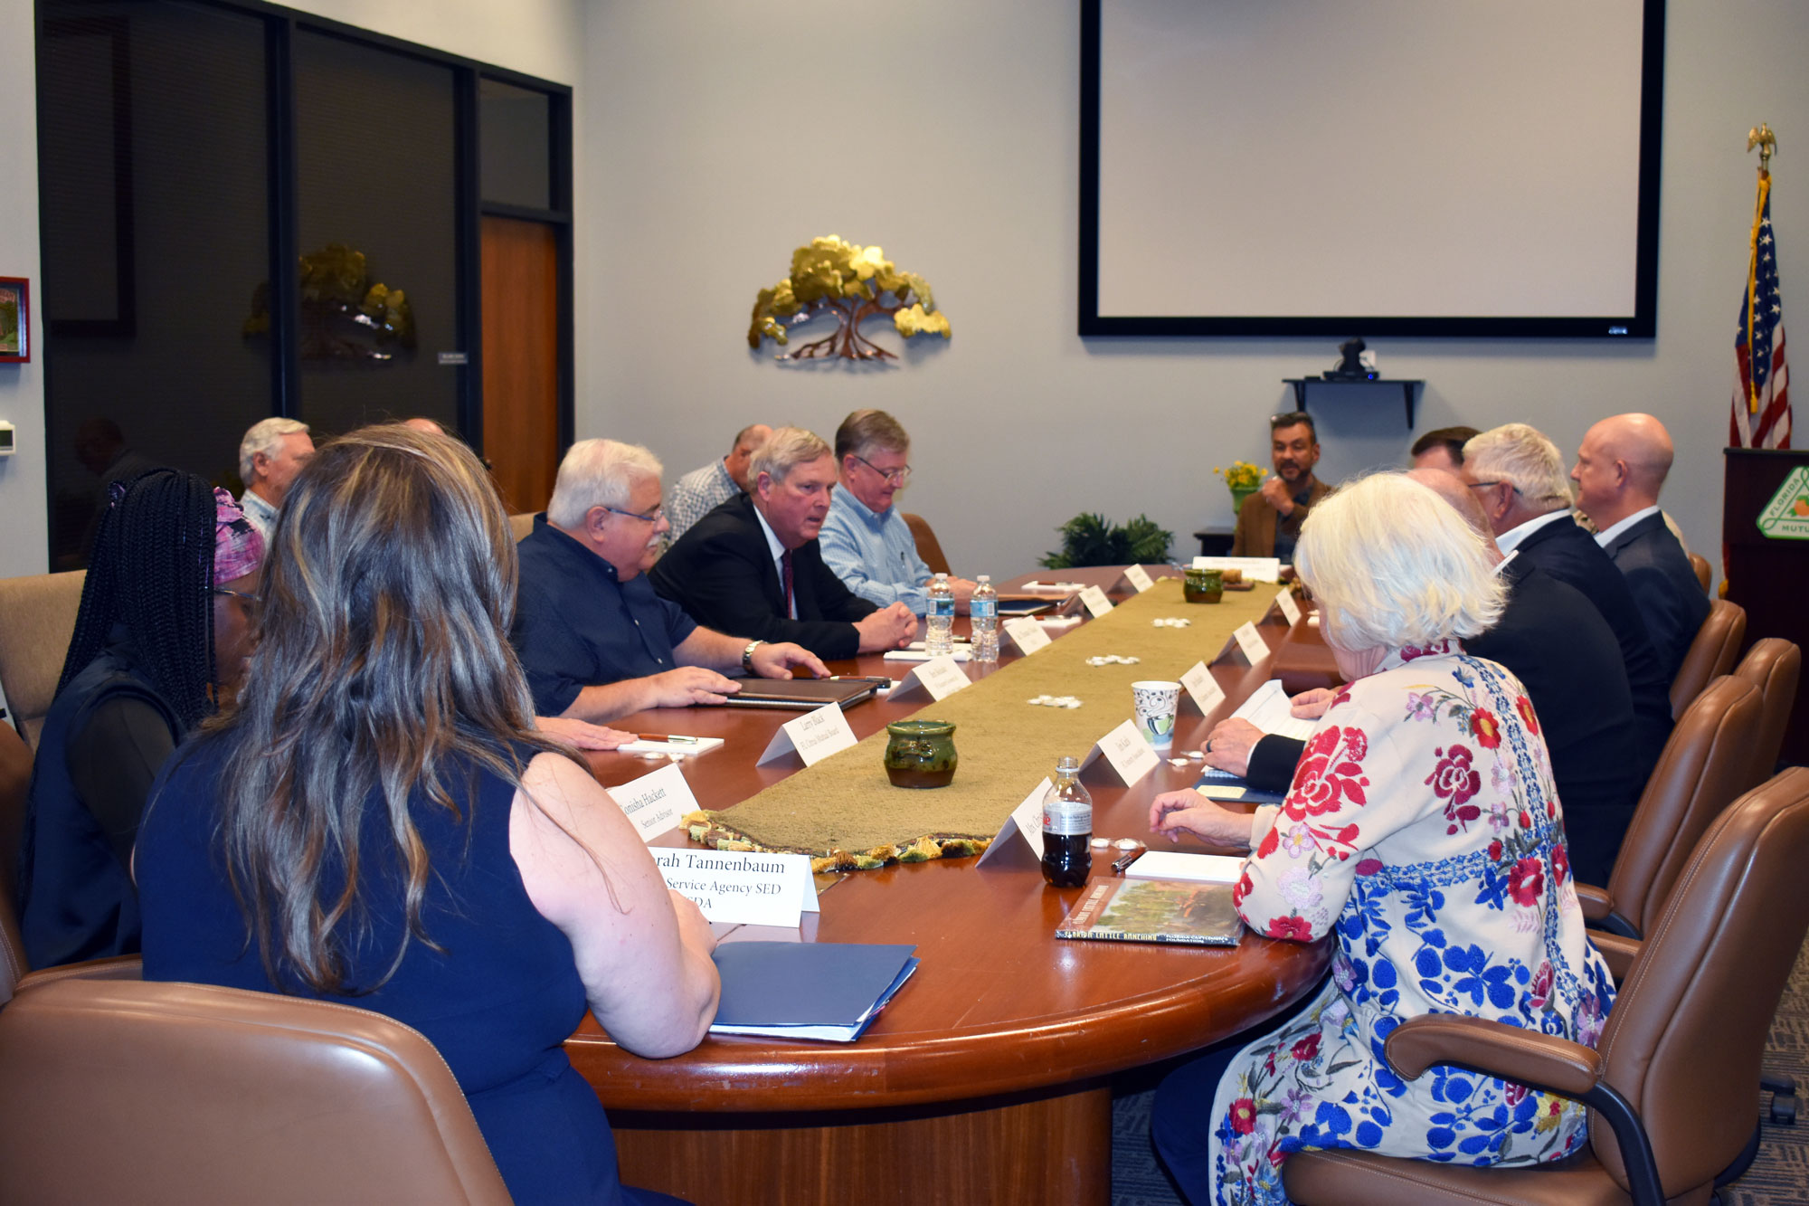
{"label": "woman with long brown hair in sleeveless navy top, seen from behind", "polygon": [[237,708],[152,790],[145,978],[389,1014],[445,1056],[516,1202],[646,1201],[563,1043],[588,1003],[628,1050],[695,1047],[709,925],[534,730],[514,599],[508,518],[461,444],[387,426],[315,456]]}

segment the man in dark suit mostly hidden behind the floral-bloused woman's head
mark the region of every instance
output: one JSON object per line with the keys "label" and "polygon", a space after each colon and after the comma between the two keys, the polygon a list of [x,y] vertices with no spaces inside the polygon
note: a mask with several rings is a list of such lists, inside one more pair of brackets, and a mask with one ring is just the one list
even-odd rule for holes
{"label": "man in dark suit mostly hidden behind the floral-bloused woman's head", "polygon": [[[1442,469],[1415,469],[1409,476],[1436,489],[1492,549],[1487,520],[1456,476]],[[1650,773],[1637,751],[1634,694],[1619,645],[1608,621],[1574,587],[1523,558],[1503,563],[1500,572],[1509,589],[1501,619],[1463,641],[1463,652],[1507,666],[1527,688],[1536,732],[1552,755],[1570,866],[1577,880],[1606,884]],[[1207,744],[1207,762],[1264,791],[1288,788],[1304,748],[1288,737],[1255,735],[1248,721],[1223,721]]]}

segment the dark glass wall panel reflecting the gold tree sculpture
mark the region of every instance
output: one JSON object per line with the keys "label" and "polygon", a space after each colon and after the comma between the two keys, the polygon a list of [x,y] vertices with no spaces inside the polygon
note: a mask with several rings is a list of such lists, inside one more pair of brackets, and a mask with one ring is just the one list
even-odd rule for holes
{"label": "dark glass wall panel reflecting the gold tree sculpture", "polygon": [[458,112],[450,67],[295,34],[298,418],[458,429]]}

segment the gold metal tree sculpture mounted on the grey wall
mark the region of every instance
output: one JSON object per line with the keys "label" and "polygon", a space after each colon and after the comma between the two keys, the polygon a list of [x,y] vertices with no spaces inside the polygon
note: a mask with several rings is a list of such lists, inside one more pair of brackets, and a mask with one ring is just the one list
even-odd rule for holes
{"label": "gold metal tree sculpture mounted on the grey wall", "polygon": [[897,353],[861,335],[861,322],[874,315],[892,315],[892,326],[904,339],[924,333],[948,339],[948,315],[937,311],[928,281],[899,272],[877,246],[856,246],[838,235],[810,239],[794,250],[791,275],[760,290],[747,346],[758,351],[771,337],[785,348],[785,328],[819,313],[834,315],[836,330],[781,353],[780,360],[895,360]]}

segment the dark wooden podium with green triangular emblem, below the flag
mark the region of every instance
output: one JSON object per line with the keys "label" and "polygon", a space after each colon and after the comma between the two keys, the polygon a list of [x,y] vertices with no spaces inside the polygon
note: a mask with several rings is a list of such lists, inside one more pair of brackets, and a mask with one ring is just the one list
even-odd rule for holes
{"label": "dark wooden podium with green triangular emblem, below the flag", "polygon": [[[1809,473],[1809,453],[1729,447],[1726,455],[1720,541],[1728,598],[1746,608],[1747,643],[1784,637],[1809,650],[1809,540],[1780,538],[1776,529],[1767,536],[1758,525],[1778,489],[1798,471]],[[1784,730],[1784,761],[1809,762],[1809,690],[1802,683]]]}

